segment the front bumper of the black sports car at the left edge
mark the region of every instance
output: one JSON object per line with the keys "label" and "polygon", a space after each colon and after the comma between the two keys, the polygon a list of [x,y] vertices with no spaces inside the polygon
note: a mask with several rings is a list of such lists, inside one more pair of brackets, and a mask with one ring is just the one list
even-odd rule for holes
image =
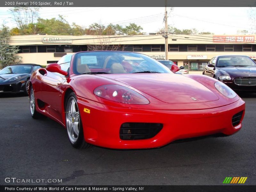
{"label": "front bumper of the black sports car at the left edge", "polygon": [[20,81],[10,84],[0,84],[0,94],[1,93],[19,93],[24,92],[24,86],[26,81]]}

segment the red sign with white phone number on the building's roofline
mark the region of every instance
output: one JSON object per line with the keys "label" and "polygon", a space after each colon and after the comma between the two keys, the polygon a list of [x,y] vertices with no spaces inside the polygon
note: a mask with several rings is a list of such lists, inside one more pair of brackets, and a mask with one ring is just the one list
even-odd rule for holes
{"label": "red sign with white phone number on the building's roofline", "polygon": [[246,36],[213,36],[213,42],[218,43],[232,43],[232,42],[238,42],[238,43],[254,43],[254,36],[253,35],[246,35]]}

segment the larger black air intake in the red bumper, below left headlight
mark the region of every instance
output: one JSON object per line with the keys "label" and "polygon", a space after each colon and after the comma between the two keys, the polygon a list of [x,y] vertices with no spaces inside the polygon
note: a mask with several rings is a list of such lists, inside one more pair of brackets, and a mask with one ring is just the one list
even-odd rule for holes
{"label": "larger black air intake in the red bumper, below left headlight", "polygon": [[149,139],[161,131],[161,123],[124,123],[120,127],[120,139]]}

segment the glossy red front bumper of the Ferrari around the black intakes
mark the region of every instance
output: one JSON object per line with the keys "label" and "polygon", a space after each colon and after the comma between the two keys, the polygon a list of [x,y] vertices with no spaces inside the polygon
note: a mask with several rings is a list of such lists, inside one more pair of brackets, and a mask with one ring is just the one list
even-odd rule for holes
{"label": "glossy red front bumper of the Ferrari around the black intakes", "polygon": [[[174,140],[216,133],[234,134],[242,127],[244,113],[235,127],[232,117],[244,111],[245,103],[240,99],[204,110],[145,110],[117,108],[78,97],[78,107],[86,142],[106,148],[139,149],[158,148]],[[161,123],[163,128],[150,139],[121,140],[120,127],[127,122]]]}

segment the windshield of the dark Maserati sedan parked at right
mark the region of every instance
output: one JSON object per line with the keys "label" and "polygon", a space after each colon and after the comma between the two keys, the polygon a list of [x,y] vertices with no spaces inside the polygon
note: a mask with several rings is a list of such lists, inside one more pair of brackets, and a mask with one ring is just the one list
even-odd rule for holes
{"label": "windshield of the dark Maserati sedan parked at right", "polygon": [[246,67],[253,66],[256,67],[256,63],[247,56],[220,56],[216,67]]}

